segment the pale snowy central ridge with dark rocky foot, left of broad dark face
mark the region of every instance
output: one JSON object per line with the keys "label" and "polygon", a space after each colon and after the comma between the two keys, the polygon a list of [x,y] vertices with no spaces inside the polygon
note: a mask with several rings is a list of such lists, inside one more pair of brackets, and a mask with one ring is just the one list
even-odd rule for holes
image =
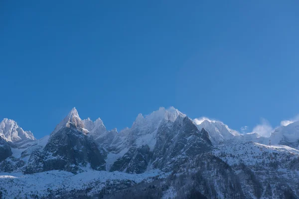
{"label": "pale snowy central ridge with dark rocky foot, left of broad dark face", "polygon": [[127,152],[114,162],[110,171],[143,173],[151,168],[158,129],[167,122],[173,123],[177,117],[185,115],[173,107],[161,107],[146,117],[139,114],[130,129],[124,129],[112,140],[111,153],[118,154],[126,149]]}

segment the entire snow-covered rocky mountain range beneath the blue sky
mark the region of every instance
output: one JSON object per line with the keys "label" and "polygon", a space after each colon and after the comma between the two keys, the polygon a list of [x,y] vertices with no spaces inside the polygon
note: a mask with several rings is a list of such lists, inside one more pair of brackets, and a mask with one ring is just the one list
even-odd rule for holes
{"label": "entire snow-covered rocky mountain range beneath the blue sky", "polygon": [[299,121],[263,137],[160,107],[118,132],[73,108],[41,139],[0,123],[0,199],[296,199],[298,179]]}

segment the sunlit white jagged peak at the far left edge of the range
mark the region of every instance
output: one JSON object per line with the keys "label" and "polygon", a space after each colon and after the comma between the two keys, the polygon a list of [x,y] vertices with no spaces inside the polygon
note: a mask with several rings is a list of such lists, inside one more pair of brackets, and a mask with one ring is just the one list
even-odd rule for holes
{"label": "sunlit white jagged peak at the far left edge of the range", "polygon": [[22,140],[35,140],[30,131],[24,131],[12,119],[4,118],[0,122],[0,136],[4,136],[6,141],[17,142]]}

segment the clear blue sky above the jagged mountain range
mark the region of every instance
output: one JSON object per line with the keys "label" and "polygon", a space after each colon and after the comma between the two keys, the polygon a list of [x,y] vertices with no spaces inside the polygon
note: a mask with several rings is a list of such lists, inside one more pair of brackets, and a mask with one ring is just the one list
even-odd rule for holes
{"label": "clear blue sky above the jagged mountain range", "polygon": [[0,2],[0,118],[37,138],[174,106],[252,129],[299,113],[299,1]]}

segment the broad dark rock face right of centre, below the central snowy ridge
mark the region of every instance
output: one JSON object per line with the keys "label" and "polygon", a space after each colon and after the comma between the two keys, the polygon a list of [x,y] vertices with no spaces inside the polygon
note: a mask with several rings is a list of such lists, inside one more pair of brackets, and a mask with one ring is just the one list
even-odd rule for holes
{"label": "broad dark rock face right of centre, below the central snowy ridge", "polygon": [[188,117],[178,116],[158,129],[152,165],[170,171],[212,147],[207,131],[199,131]]}

